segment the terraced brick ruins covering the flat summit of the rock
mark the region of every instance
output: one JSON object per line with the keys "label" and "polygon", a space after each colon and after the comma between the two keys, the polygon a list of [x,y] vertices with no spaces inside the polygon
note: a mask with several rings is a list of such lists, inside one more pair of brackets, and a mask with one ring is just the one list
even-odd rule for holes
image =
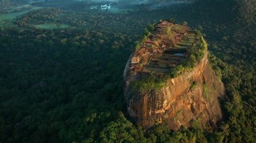
{"label": "terraced brick ruins covering the flat summit of the rock", "polygon": [[135,72],[166,74],[189,55],[188,49],[202,41],[187,26],[165,20],[155,25],[148,39],[134,52],[131,68]]}

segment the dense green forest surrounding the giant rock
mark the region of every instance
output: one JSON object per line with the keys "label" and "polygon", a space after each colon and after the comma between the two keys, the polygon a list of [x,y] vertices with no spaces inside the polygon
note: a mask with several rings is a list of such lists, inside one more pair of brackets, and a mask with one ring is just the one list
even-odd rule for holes
{"label": "dense green forest surrounding the giant rock", "polygon": [[[134,4],[0,1],[1,142],[256,142],[255,1]],[[123,70],[145,28],[175,19],[203,33],[224,82],[224,119],[171,131],[129,120]]]}

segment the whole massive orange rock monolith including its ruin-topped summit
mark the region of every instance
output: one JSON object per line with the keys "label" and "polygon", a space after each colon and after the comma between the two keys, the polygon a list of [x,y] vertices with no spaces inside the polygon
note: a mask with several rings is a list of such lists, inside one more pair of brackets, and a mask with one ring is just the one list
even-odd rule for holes
{"label": "whole massive orange rock monolith including its ruin-topped summit", "polygon": [[[178,130],[181,125],[191,126],[193,120],[202,125],[215,125],[223,117],[219,98],[224,97],[225,89],[208,62],[204,38],[198,31],[167,21],[158,23],[150,37],[130,56],[124,70],[124,98],[128,115],[144,128],[167,122],[171,129]],[[169,43],[173,38],[174,41]],[[160,46],[154,46],[154,41],[162,42]],[[150,74],[155,78],[168,75],[184,59],[191,58],[190,49],[198,50],[194,57],[202,55],[200,60],[194,62],[192,70],[181,70],[183,73],[176,78],[168,76],[164,81],[166,85],[160,89],[153,89],[156,86],[146,90],[132,87],[133,81],[140,81]],[[156,56],[152,51],[160,52],[156,52]],[[145,53],[151,53],[151,56],[144,56]],[[143,84],[143,87],[150,84]]]}

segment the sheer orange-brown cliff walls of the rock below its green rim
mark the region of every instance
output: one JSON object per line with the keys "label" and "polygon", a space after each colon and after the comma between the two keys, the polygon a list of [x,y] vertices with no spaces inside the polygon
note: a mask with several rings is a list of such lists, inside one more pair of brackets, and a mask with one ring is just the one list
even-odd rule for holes
{"label": "sheer orange-brown cliff walls of the rock below its green rim", "polygon": [[139,92],[131,88],[131,81],[143,74],[130,71],[131,57],[124,70],[124,96],[127,113],[134,123],[149,128],[166,121],[173,130],[181,125],[215,125],[222,118],[219,98],[225,95],[224,84],[215,75],[207,60],[207,52],[196,67],[176,78],[170,78],[166,87]]}

